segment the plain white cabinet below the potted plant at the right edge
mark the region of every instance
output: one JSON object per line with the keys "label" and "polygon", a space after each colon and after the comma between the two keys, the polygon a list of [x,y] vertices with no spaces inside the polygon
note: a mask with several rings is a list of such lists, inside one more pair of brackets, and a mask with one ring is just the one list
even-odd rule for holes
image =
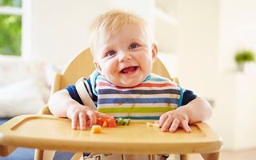
{"label": "plain white cabinet below the potted plant at the right edge", "polygon": [[[255,26],[256,27],[256,26]],[[235,75],[236,95],[234,149],[255,148],[256,146],[256,75],[239,73]]]}

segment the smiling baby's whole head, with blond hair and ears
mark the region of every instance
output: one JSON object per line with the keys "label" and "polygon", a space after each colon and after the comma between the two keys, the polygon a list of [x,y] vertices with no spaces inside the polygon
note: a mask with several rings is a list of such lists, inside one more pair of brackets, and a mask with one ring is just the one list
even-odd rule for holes
{"label": "smiling baby's whole head, with blond hair and ears", "polygon": [[116,86],[137,86],[157,58],[146,22],[132,13],[113,10],[100,15],[91,26],[90,42],[95,67]]}

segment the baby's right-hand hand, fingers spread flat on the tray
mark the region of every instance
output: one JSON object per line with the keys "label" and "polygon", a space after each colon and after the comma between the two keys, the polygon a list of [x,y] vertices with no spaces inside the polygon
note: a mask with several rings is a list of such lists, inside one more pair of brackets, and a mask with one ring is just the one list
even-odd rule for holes
{"label": "baby's right-hand hand, fingers spread flat on the tray", "polygon": [[159,126],[163,132],[167,130],[175,132],[178,127],[182,127],[186,132],[190,133],[191,129],[188,122],[189,116],[186,114],[186,106],[181,106],[176,110],[170,110],[162,114],[159,119]]}

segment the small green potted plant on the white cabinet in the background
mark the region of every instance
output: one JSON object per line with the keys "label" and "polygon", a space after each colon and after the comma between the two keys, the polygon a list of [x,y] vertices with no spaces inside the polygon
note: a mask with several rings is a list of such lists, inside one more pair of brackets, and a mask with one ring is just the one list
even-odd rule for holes
{"label": "small green potted plant on the white cabinet in the background", "polygon": [[239,71],[244,71],[245,67],[255,62],[254,52],[251,50],[238,51],[234,56]]}

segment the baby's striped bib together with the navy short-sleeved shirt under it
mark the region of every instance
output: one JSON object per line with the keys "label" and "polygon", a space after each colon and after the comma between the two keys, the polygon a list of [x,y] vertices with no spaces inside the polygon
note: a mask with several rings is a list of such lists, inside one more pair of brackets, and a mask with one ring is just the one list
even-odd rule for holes
{"label": "baby's striped bib together with the navy short-sleeved shirt under it", "polygon": [[[114,86],[94,72],[86,80],[85,87],[98,111],[122,118],[158,119],[166,111],[174,110],[196,98],[192,91],[184,90],[156,74],[150,74],[138,86],[125,88]],[[74,86],[68,86],[66,90],[71,98],[82,104]]]}

